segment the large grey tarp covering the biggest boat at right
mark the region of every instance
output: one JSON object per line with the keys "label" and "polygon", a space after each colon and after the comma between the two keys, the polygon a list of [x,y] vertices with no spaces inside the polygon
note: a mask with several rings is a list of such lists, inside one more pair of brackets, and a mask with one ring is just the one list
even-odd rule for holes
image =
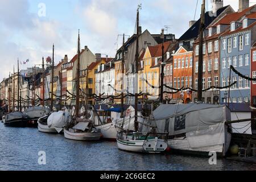
{"label": "large grey tarp covering the biggest boat at right", "polygon": [[158,132],[169,135],[222,133],[231,119],[227,106],[210,104],[160,105],[152,115]]}

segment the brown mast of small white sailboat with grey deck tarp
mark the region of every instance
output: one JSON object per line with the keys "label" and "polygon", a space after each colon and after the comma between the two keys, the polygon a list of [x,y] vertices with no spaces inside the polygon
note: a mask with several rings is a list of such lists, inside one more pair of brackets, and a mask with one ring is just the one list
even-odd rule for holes
{"label": "brown mast of small white sailboat with grey deck tarp", "polygon": [[79,100],[80,100],[80,31],[77,43],[77,72],[76,72],[76,117],[79,117]]}

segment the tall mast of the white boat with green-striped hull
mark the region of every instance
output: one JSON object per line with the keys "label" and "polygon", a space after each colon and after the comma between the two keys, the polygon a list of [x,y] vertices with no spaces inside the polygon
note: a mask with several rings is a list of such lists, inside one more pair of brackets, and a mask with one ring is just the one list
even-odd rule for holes
{"label": "tall mast of the white boat with green-striped hull", "polygon": [[134,118],[134,129],[138,131],[139,123],[138,123],[138,62],[139,62],[139,9],[141,9],[141,5],[138,6],[137,9],[137,39],[136,39],[136,54],[135,54],[135,118]]}

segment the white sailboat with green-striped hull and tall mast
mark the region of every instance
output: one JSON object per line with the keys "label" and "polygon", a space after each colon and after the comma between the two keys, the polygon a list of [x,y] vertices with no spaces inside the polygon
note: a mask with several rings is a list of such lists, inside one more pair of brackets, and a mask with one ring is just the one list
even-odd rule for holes
{"label": "white sailboat with green-striped hull and tall mast", "polygon": [[[138,76],[138,61],[139,61],[139,9],[137,9],[137,45],[136,45],[136,59],[135,59],[135,75]],[[136,78],[135,78],[136,79]],[[137,79],[138,80],[138,79]],[[138,84],[138,82],[135,82]],[[137,88],[137,86],[135,86]],[[139,132],[139,122],[138,122],[138,91],[135,91],[135,120],[134,120],[134,130],[125,130],[121,127],[121,130],[117,134],[117,146],[119,150],[129,151],[129,152],[147,152],[152,154],[157,154],[163,152],[167,149],[167,142],[164,139],[159,139],[158,134],[154,131],[150,131],[147,134]],[[125,119],[123,120],[125,121]],[[141,123],[141,122],[140,122]],[[143,123],[141,123],[143,124]],[[125,125],[125,123],[123,123]],[[150,126],[153,128],[154,126]]]}

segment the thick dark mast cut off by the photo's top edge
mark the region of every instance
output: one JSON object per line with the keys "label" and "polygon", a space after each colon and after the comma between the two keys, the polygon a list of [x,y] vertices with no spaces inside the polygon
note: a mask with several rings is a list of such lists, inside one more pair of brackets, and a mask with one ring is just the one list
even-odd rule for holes
{"label": "thick dark mast cut off by the photo's top edge", "polygon": [[198,102],[202,102],[202,92],[203,92],[203,38],[204,38],[204,26],[205,26],[205,0],[203,0],[203,4],[201,7],[201,23],[199,30],[199,62],[198,62]]}

